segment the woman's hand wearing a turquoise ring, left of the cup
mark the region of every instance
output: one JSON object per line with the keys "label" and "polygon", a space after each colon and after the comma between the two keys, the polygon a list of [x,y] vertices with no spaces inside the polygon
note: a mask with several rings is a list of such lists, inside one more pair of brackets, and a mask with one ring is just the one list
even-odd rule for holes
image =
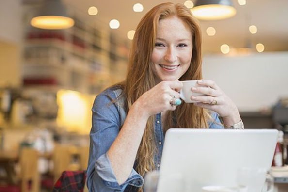
{"label": "woman's hand wearing a turquoise ring, left of the cup", "polygon": [[143,109],[143,114],[146,114],[147,117],[167,110],[173,111],[176,106],[171,105],[170,102],[173,96],[175,98],[180,97],[178,92],[182,89],[182,86],[182,83],[178,80],[161,81],[140,96],[134,104]]}

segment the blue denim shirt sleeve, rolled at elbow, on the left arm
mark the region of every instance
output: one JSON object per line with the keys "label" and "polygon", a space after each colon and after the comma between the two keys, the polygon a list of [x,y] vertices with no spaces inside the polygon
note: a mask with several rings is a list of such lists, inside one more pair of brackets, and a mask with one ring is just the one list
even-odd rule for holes
{"label": "blue denim shirt sleeve, rolled at elbow, on the left arm", "polygon": [[87,167],[87,187],[91,192],[124,192],[128,185],[141,187],[144,183],[132,169],[128,179],[119,185],[107,156],[121,127],[119,108],[112,102],[115,98],[112,90],[106,90],[96,96],[93,104]]}

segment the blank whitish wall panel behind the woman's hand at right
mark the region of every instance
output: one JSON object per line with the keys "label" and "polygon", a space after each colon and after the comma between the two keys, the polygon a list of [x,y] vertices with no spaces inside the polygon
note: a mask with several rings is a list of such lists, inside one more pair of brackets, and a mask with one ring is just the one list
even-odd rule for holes
{"label": "blank whitish wall panel behind the woman's hand at right", "polygon": [[204,79],[214,80],[240,111],[270,108],[288,97],[288,52],[205,56]]}

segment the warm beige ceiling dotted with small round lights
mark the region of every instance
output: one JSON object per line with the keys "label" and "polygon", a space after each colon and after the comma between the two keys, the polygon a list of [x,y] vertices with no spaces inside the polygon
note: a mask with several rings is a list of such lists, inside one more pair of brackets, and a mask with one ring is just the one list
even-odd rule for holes
{"label": "warm beige ceiling dotted with small round lights", "polygon": [[[195,2],[195,0],[192,0]],[[220,53],[220,46],[228,44],[231,48],[244,48],[250,42],[254,48],[257,43],[265,46],[265,51],[288,51],[288,0],[246,0],[240,6],[232,0],[237,9],[236,16],[219,21],[200,21],[203,33],[203,51]],[[166,0],[63,0],[68,8],[87,16],[87,20],[97,20],[108,26],[111,19],[120,21],[115,31],[120,38],[127,39],[127,32],[135,30],[144,14],[156,4]],[[184,3],[185,0],[171,0],[173,3]],[[143,12],[133,12],[135,3],[142,3]],[[96,6],[98,14],[88,16],[87,9]],[[249,25],[255,25],[256,34],[248,31]],[[208,36],[206,29],[214,27],[216,34]]]}

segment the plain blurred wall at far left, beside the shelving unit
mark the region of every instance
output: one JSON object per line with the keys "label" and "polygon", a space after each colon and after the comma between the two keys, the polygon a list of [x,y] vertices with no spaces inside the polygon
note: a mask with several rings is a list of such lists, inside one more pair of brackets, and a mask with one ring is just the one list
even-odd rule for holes
{"label": "plain blurred wall at far left, beside the shelving unit", "polygon": [[0,0],[0,87],[21,84],[21,0]]}

